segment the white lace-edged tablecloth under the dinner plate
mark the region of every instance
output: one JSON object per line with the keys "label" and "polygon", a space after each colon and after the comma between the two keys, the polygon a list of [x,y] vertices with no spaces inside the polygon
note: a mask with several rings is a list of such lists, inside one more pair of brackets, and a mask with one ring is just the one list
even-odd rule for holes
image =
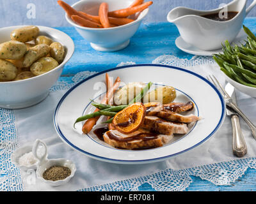
{"label": "white lace-edged tablecloth under the dinner plate", "polygon": [[[206,76],[216,75],[222,84],[225,79],[211,57],[179,59],[172,55],[157,57],[153,64],[166,64],[195,71]],[[118,66],[134,64],[122,62]],[[60,80],[42,103],[22,110],[0,111],[0,190],[1,191],[138,191],[148,183],[157,191],[182,191],[192,182],[191,176],[209,180],[216,185],[230,185],[241,177],[247,168],[256,168],[256,140],[241,120],[241,128],[248,145],[248,154],[238,159],[232,154],[232,127],[227,117],[223,126],[208,141],[189,152],[153,164],[111,164],[83,156],[61,142],[54,131],[52,117],[61,96],[74,84],[93,75],[77,73],[72,81]],[[199,88],[199,87],[198,87]],[[205,96],[207,97],[207,96]],[[237,103],[256,123],[256,99],[237,91]],[[60,187],[46,186],[35,178],[35,171],[19,170],[10,160],[17,147],[44,140],[49,159],[65,157],[76,163],[75,177]]]}

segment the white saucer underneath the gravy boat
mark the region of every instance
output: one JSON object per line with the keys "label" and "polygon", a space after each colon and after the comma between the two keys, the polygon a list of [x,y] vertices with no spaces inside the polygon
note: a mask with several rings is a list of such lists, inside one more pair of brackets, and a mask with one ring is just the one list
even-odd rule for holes
{"label": "white saucer underneath the gravy boat", "polygon": [[[244,30],[241,29],[239,34],[237,34],[235,40],[232,42],[232,45],[234,45],[234,44],[240,45],[241,43],[244,43],[243,40],[246,40],[246,37],[247,37],[246,33],[244,33]],[[181,36],[179,36],[175,40],[175,45],[180,50],[182,50],[184,52],[187,52],[188,54],[193,54],[193,55],[211,56],[213,54],[222,53],[221,49],[219,49],[219,50],[210,50],[210,51],[200,50],[199,48],[196,48],[195,46],[186,43],[186,41],[184,41],[181,38]]]}

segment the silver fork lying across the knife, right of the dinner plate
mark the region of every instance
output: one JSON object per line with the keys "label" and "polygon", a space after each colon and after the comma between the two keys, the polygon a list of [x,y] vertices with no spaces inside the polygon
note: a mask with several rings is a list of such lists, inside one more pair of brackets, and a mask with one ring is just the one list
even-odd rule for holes
{"label": "silver fork lying across the knife, right of the dinner plate", "polygon": [[210,82],[212,82],[212,84],[214,84],[215,87],[221,92],[221,95],[223,96],[226,105],[228,107],[232,108],[232,110],[234,110],[234,112],[238,113],[244,119],[244,121],[251,128],[253,137],[256,139],[256,127],[255,127],[255,125],[248,119],[248,117],[246,117],[246,115],[244,115],[244,113],[237,107],[237,105],[233,103],[232,98],[230,98],[230,96],[227,94],[225,89],[223,89],[223,87],[221,86],[220,82],[218,82],[216,77],[214,77],[214,75],[209,75],[207,77],[207,79]]}

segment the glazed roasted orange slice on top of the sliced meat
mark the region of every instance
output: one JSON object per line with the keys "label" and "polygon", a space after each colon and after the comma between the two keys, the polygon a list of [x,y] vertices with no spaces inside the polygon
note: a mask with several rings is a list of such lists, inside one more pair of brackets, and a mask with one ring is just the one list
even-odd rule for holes
{"label": "glazed roasted orange slice on top of the sliced meat", "polygon": [[146,108],[143,103],[133,103],[116,113],[112,123],[120,133],[130,134],[140,128],[145,115]]}

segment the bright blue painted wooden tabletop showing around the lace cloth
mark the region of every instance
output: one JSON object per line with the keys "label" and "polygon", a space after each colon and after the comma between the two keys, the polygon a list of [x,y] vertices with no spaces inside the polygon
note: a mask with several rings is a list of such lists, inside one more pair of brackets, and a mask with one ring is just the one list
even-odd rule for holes
{"label": "bright blue painted wooden tabletop showing around the lace cloth", "polygon": [[[246,18],[244,24],[256,33],[256,18]],[[175,55],[191,59],[175,47],[179,32],[175,25],[167,22],[143,24],[131,39],[130,45],[118,52],[97,52],[90,43],[83,40],[73,27],[58,27],[67,33],[76,45],[76,51],[63,69],[61,80],[70,80],[80,71],[102,71],[115,67],[120,62],[151,63],[160,55]],[[192,177],[192,184],[186,191],[256,191],[256,170],[248,169],[240,179],[231,186],[215,186],[211,182]],[[149,184],[143,184],[140,191],[154,191]]]}

